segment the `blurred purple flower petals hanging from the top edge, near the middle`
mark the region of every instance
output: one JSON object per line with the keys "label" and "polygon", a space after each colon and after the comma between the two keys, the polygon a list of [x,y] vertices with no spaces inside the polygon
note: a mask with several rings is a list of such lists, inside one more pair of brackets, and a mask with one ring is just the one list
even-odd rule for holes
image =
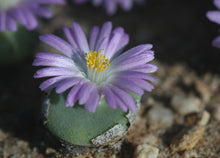
{"label": "blurred purple flower petals hanging from the top edge, near the middle", "polygon": [[[82,4],[88,1],[89,0],[74,0],[76,4]],[[123,10],[128,11],[132,8],[133,2],[143,4],[145,0],[91,0],[91,2],[96,7],[104,5],[107,13],[113,15],[117,10],[117,5],[120,5]]]}

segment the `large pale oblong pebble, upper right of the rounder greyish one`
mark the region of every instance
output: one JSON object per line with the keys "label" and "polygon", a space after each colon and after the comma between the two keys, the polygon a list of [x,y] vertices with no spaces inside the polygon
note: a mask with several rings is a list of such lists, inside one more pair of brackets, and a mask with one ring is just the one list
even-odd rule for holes
{"label": "large pale oblong pebble, upper right of the rounder greyish one", "polygon": [[200,112],[203,109],[202,102],[197,97],[173,96],[171,106],[181,115]]}

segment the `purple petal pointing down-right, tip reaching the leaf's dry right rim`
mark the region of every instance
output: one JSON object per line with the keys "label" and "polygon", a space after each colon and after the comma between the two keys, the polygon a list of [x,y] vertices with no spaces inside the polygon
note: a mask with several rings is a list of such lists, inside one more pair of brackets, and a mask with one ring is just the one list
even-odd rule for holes
{"label": "purple petal pointing down-right, tip reaching the leaf's dry right rim", "polygon": [[116,86],[111,86],[111,89],[118,99],[121,100],[129,110],[136,112],[136,104],[129,93]]}

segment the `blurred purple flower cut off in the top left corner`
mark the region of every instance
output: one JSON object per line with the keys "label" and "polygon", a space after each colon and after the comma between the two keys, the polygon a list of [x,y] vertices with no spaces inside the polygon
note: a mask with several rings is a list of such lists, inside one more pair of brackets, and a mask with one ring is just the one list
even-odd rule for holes
{"label": "blurred purple flower cut off in the top left corner", "polygon": [[28,30],[37,27],[35,14],[50,18],[51,11],[41,4],[64,4],[64,0],[0,0],[0,32],[5,30],[17,31],[18,21]]}

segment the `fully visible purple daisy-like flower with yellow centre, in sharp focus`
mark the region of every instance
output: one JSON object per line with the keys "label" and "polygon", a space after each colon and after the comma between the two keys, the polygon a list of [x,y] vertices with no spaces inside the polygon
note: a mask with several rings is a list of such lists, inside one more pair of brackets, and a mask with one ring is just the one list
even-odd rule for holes
{"label": "fully visible purple daisy-like flower with yellow centre, in sharp focus", "polygon": [[36,54],[33,65],[49,67],[36,71],[34,78],[52,77],[41,83],[40,89],[48,91],[56,87],[59,94],[71,88],[67,107],[79,101],[87,111],[95,112],[103,95],[111,108],[136,111],[128,92],[141,96],[144,90],[153,89],[146,81],[154,81],[147,73],[157,70],[156,65],[146,64],[154,59],[152,45],[142,44],[121,53],[129,42],[122,27],[112,30],[111,22],[101,28],[94,26],[89,43],[78,23],[73,22],[73,28],[63,28],[69,43],[53,34],[40,36],[41,41],[61,52]]}

